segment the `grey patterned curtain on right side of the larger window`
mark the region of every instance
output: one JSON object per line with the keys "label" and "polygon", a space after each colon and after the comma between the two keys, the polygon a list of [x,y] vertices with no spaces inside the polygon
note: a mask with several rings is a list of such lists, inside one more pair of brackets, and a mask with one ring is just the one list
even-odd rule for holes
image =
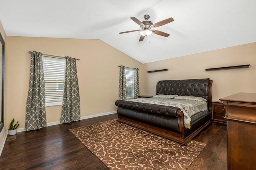
{"label": "grey patterned curtain on right side of the larger window", "polygon": [[80,95],[76,72],[76,59],[66,57],[63,104],[60,123],[70,123],[80,119]]}

